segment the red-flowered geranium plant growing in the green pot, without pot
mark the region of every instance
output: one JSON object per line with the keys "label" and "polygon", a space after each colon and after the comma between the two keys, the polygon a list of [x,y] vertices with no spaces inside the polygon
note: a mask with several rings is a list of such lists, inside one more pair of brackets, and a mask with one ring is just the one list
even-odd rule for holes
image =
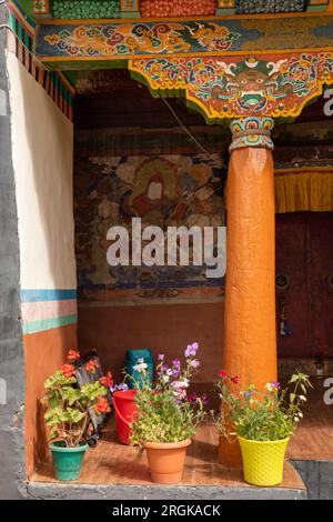
{"label": "red-flowered geranium plant growing in the green pot, without pot", "polygon": [[[46,380],[46,394],[42,398],[47,406],[44,420],[50,428],[50,440],[62,441],[67,448],[80,445],[89,422],[90,409],[93,409],[97,414],[110,411],[104,395],[107,395],[107,385],[112,379],[111,373],[109,372],[100,381],[79,388],[74,375],[74,363],[79,359],[78,351],[69,351],[67,363]],[[87,367],[88,371],[94,371],[95,362],[89,361]]]}

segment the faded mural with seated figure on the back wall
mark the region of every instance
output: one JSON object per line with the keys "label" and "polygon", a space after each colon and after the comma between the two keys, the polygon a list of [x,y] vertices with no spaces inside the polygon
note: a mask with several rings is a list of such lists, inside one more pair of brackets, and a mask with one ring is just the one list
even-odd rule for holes
{"label": "faded mural with seated figure on the back wall", "polygon": [[[223,279],[206,279],[205,267],[110,267],[108,230],[131,235],[132,218],[145,225],[224,224],[221,160],[189,155],[90,157],[77,159],[75,222],[78,285],[82,301],[114,304],[219,301]],[[191,263],[190,263],[191,264]]]}

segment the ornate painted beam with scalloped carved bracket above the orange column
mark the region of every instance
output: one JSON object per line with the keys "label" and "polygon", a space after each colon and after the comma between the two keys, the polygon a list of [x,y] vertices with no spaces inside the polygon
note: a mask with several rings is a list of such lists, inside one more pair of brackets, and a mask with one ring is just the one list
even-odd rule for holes
{"label": "ornate painted beam with scalloped carved bracket above the orange column", "polygon": [[295,118],[333,83],[333,14],[43,22],[36,53],[54,69],[128,67],[208,123]]}

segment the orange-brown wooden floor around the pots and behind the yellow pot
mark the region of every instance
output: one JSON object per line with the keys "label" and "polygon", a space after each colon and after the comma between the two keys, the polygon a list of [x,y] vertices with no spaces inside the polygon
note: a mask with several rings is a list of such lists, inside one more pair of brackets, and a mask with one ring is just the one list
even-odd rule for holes
{"label": "orange-brown wooden floor around the pots and behind the yellow pot", "polygon": [[[333,405],[323,403],[324,389],[315,389],[304,411],[304,420],[294,434],[287,458],[294,460],[333,461]],[[242,472],[218,464],[218,432],[206,424],[188,449],[186,465],[180,485],[246,486]],[[33,482],[57,482],[49,460],[30,478]],[[75,483],[75,482],[74,482]],[[97,448],[87,452],[80,484],[151,484],[145,455],[137,458],[134,448],[117,443],[113,422],[105,428]],[[304,489],[304,484],[286,461],[281,488]]]}

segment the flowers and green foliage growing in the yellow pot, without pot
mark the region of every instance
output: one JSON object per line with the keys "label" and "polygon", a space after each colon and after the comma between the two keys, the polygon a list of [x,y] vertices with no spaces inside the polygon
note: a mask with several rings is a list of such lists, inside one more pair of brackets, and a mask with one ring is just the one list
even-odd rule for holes
{"label": "flowers and green foliage growing in the yellow pot, without pot", "polygon": [[[312,388],[307,375],[301,372],[293,374],[284,390],[280,390],[279,382],[268,382],[264,393],[253,384],[238,393],[232,390],[238,382],[238,377],[230,377],[221,370],[215,383],[222,401],[216,419],[222,435],[230,441],[238,435],[263,442],[292,435],[303,416],[301,406],[306,401],[307,389]],[[290,387],[293,387],[292,391]]]}

